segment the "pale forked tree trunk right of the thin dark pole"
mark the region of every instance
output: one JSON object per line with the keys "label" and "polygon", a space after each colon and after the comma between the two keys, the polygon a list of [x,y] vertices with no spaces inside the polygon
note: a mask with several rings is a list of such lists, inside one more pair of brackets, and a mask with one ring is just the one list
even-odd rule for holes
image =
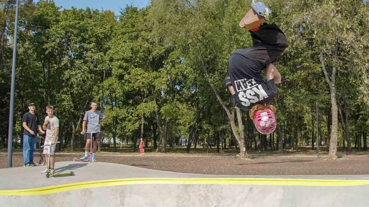
{"label": "pale forked tree trunk right of the thin dark pole", "polygon": [[336,58],[338,52],[338,42],[335,45],[335,51],[332,59],[332,76],[331,79],[328,76],[327,70],[324,64],[323,49],[320,50],[320,61],[324,72],[325,80],[327,81],[331,94],[331,110],[332,110],[332,130],[331,140],[329,145],[328,157],[335,159],[337,157],[337,139],[338,139],[338,107],[336,102],[336,90],[335,90],[335,78],[336,78]]}

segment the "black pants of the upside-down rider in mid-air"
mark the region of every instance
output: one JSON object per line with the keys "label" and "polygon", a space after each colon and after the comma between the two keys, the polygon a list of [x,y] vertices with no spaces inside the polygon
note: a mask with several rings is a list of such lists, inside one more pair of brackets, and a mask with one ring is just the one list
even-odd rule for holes
{"label": "black pants of the upside-down rider in mid-air", "polygon": [[264,24],[256,31],[251,31],[253,46],[238,49],[234,53],[242,55],[266,69],[270,63],[275,63],[288,46],[282,30],[275,24]]}

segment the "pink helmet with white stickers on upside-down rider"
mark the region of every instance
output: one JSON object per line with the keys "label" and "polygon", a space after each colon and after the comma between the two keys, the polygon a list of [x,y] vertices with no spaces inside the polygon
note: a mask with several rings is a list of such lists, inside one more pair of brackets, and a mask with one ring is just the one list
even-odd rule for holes
{"label": "pink helmet with white stickers on upside-down rider", "polygon": [[254,124],[260,133],[270,134],[276,129],[277,121],[272,110],[265,109],[255,113]]}

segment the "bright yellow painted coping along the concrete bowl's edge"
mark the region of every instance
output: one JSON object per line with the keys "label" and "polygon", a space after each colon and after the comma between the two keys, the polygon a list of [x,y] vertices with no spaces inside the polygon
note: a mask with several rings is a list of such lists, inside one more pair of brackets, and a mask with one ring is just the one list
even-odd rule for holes
{"label": "bright yellow painted coping along the concrete bowl's edge", "polygon": [[[52,178],[50,178],[52,179]],[[57,178],[55,178],[57,179]],[[277,185],[277,186],[358,186],[369,185],[369,180],[334,179],[284,179],[284,178],[123,178],[93,180],[62,185],[0,190],[0,196],[35,196],[59,193],[69,190],[141,184],[177,184],[177,185]]]}

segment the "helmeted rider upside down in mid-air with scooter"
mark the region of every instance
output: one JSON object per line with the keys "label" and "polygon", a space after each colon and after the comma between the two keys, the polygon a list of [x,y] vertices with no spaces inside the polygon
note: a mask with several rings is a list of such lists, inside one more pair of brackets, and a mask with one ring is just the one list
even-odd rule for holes
{"label": "helmeted rider upside down in mid-air with scooter", "polygon": [[[270,11],[263,3],[256,4],[267,13]],[[249,116],[256,129],[262,134],[269,134],[275,130],[277,123],[274,116],[276,108],[269,103],[276,95],[275,84],[281,83],[280,73],[273,64],[287,48],[288,42],[275,23],[266,24],[265,17],[253,8],[239,22],[241,28],[250,31],[253,46],[231,54],[229,76],[224,83],[232,94],[232,103],[238,108],[250,110]],[[266,81],[261,77],[264,69]]]}

